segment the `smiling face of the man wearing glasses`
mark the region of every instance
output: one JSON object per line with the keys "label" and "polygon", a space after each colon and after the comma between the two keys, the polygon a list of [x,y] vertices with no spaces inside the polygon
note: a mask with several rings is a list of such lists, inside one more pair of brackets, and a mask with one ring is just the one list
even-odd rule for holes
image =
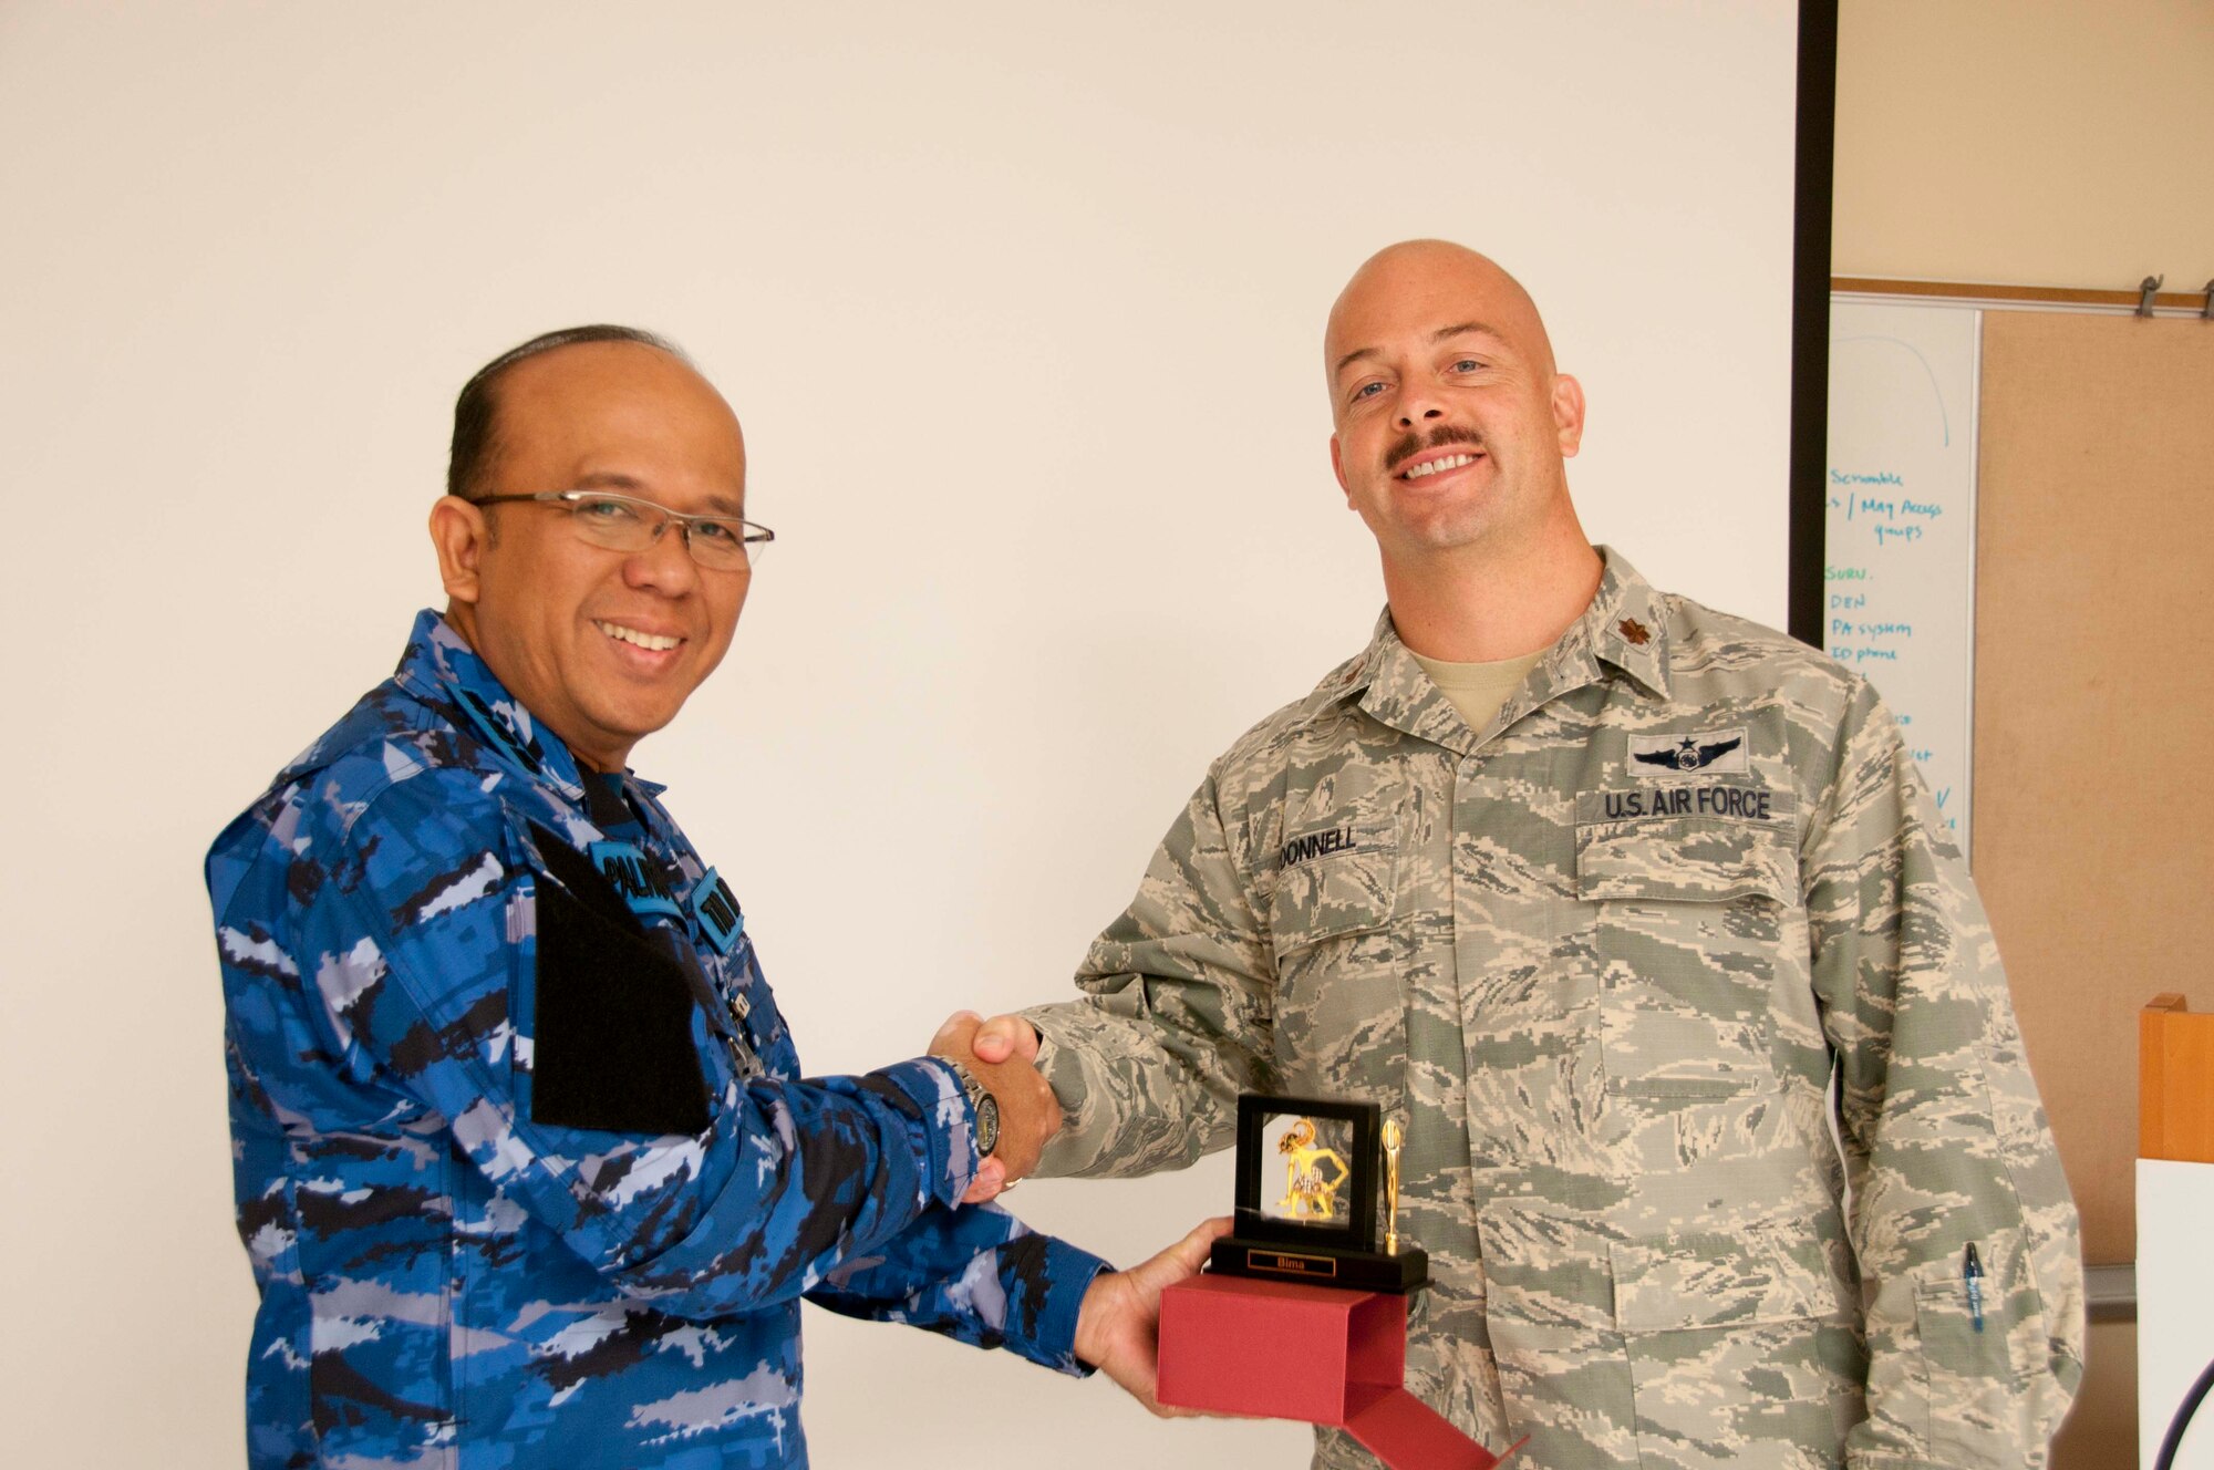
{"label": "smiling face of the man wearing glasses", "polygon": [[[638,343],[578,343],[498,383],[485,494],[609,489],[737,516],[746,443],[697,372]],[[565,505],[432,509],[447,620],[587,766],[620,770],[731,646],[748,573],[702,569],[675,527],[624,553],[578,536]],[[496,518],[492,522],[489,518]]]}

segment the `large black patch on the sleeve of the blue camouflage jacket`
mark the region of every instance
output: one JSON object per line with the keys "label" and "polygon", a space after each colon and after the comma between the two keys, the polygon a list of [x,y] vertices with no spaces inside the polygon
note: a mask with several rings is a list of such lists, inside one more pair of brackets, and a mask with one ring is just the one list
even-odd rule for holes
{"label": "large black patch on the sleeve of the blue camouflage jacket", "polygon": [[629,912],[618,921],[558,883],[538,883],[534,983],[536,1122],[609,1133],[706,1129],[691,985]]}

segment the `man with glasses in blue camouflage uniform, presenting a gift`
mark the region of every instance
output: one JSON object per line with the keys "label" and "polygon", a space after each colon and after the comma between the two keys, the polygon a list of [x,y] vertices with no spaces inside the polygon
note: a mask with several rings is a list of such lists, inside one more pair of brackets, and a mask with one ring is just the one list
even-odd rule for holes
{"label": "man with glasses in blue camouflage uniform, presenting a gift", "polygon": [[658,339],[487,365],[447,613],[208,855],[257,1468],[804,1466],[801,1295],[1149,1395],[1207,1226],[1116,1275],[956,1209],[1036,1160],[1045,1085],[797,1080],[737,899],[624,766],[731,642],[744,474]]}

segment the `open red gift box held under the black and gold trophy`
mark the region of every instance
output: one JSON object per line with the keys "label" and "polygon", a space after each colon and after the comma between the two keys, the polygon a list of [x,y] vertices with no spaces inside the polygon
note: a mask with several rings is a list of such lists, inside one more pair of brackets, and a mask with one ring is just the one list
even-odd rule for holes
{"label": "open red gift box held under the black and gold trophy", "polygon": [[1342,1428],[1393,1470],[1499,1463],[1404,1377],[1404,1295],[1242,1275],[1196,1275],[1160,1295],[1162,1404]]}

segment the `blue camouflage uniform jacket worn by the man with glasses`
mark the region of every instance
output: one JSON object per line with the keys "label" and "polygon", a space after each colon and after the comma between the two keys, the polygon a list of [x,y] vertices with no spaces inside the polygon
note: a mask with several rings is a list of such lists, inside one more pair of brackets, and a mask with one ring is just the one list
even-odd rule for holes
{"label": "blue camouflage uniform jacket worn by the man with glasses", "polygon": [[208,852],[248,1463],[804,1466],[799,1297],[1083,1370],[952,1069],[799,1080],[728,886],[425,611]]}

